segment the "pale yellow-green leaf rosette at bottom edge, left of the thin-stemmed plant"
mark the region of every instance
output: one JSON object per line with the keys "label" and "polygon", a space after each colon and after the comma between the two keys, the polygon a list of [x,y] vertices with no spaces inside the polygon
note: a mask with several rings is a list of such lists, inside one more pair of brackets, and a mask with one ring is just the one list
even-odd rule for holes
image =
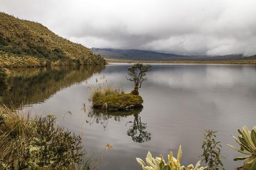
{"label": "pale yellow-green leaf rosette at bottom edge, left of the thin-stemmed plant", "polygon": [[147,153],[146,163],[140,158],[136,158],[137,162],[141,165],[143,170],[203,170],[206,167],[200,167],[201,161],[198,161],[195,166],[190,164],[188,167],[180,165],[180,159],[182,156],[181,146],[179,147],[177,159],[173,157],[173,152],[168,154],[168,162],[165,163],[163,156],[153,158],[151,153]]}

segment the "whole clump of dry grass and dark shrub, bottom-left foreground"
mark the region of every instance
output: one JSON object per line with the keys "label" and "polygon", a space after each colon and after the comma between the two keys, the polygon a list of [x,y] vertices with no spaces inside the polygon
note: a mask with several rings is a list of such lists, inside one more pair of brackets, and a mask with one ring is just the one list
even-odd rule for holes
{"label": "whole clump of dry grass and dark shrub, bottom-left foreground", "polygon": [[0,107],[0,169],[69,169],[84,154],[81,137],[57,126],[55,116]]}

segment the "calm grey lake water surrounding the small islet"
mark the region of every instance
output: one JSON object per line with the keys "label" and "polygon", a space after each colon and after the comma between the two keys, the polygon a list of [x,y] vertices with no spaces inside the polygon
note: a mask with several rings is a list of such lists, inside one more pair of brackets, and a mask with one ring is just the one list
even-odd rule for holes
{"label": "calm grey lake water surrounding the small islet", "polygon": [[[218,131],[226,169],[242,164],[233,161],[241,154],[226,144],[237,146],[231,136],[237,136],[237,128],[256,125],[256,66],[152,64],[140,89],[143,109],[124,113],[91,109],[88,86],[104,82],[102,77],[110,86],[132,90],[132,82],[126,80],[129,66],[14,69],[11,81],[0,88],[0,100],[24,101],[23,110],[55,114],[59,124],[82,135],[88,153],[102,157],[100,169],[141,169],[135,157],[144,159],[150,151],[166,158],[170,151],[176,155],[180,144],[181,163],[195,164],[204,129]],[[104,151],[107,143],[114,148]]]}

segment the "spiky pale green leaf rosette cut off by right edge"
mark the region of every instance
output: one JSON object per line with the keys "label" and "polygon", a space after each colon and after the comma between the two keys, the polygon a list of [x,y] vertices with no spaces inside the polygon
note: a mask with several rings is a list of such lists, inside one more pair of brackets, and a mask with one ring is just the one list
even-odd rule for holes
{"label": "spiky pale green leaf rosette cut off by right edge", "polygon": [[230,144],[229,147],[236,151],[246,154],[245,157],[234,158],[234,161],[245,160],[243,167],[239,169],[256,169],[256,126],[250,131],[246,126],[238,129],[238,138],[234,137],[235,141],[239,144],[240,148],[236,148]]}

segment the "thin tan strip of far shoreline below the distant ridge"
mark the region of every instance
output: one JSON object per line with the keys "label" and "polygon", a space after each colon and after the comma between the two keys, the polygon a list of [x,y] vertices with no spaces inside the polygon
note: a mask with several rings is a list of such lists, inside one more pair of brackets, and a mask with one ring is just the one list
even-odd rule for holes
{"label": "thin tan strip of far shoreline below the distant ridge", "polygon": [[129,60],[104,58],[107,63],[202,63],[202,64],[253,64],[256,59],[230,59],[230,60]]}

